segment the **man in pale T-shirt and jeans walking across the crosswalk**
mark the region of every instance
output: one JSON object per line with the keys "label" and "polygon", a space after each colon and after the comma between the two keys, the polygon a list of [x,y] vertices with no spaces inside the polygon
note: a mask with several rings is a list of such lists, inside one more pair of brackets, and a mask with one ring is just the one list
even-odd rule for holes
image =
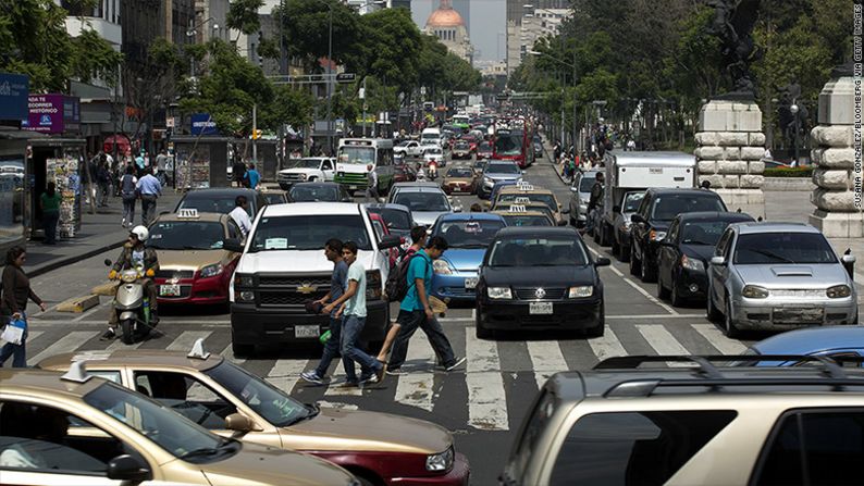
{"label": "man in pale T-shirt and jeans walking across the crosswalk", "polygon": [[[342,321],[342,364],[345,366],[346,386],[361,383],[378,383],[384,377],[386,366],[359,348],[360,334],[366,326],[366,267],[357,261],[357,244],[346,241],[342,246],[342,258],[348,265],[345,294],[333,302],[324,306],[323,312]],[[360,363],[360,378],[357,378],[354,363]]]}

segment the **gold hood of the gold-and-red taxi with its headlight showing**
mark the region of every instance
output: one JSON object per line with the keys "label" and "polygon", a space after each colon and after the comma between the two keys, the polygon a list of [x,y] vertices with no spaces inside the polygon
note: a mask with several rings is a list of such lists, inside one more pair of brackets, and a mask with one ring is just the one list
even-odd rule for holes
{"label": "gold hood of the gold-and-red taxi with its headlight showing", "polygon": [[[431,454],[453,445],[450,434],[439,425],[396,414],[321,408],[312,420],[284,428],[300,450],[377,450]],[[291,444],[287,444],[291,447]]]}

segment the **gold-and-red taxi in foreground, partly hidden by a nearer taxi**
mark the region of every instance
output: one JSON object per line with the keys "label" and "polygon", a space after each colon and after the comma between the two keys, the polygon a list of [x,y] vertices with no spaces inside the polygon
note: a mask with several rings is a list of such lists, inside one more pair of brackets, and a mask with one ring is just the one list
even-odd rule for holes
{"label": "gold-and-red taxi in foreground, partly hidden by a nearer taxi", "polygon": [[214,433],[308,452],[350,471],[362,484],[467,485],[467,459],[453,436],[430,422],[298,402],[270,383],[208,353],[118,350],[65,353],[38,364],[90,373],[149,395]]}

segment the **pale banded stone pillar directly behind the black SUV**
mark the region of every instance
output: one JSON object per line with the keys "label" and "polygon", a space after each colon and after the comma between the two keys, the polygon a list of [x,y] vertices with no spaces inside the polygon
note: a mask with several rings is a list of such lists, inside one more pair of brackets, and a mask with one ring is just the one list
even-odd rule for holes
{"label": "pale banded stone pillar directly behind the black SUV", "polygon": [[765,217],[765,135],[762,111],[753,101],[711,100],[699,112],[696,169],[729,211]]}

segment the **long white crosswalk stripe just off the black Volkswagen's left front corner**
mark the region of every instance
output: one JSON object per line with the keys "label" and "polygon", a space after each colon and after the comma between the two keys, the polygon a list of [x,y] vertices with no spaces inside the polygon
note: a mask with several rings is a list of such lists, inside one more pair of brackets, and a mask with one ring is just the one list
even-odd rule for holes
{"label": "long white crosswalk stripe just off the black Volkswagen's left front corner", "polygon": [[478,339],[472,328],[466,331],[468,425],[484,431],[509,431],[507,396],[501,375],[497,344]]}

